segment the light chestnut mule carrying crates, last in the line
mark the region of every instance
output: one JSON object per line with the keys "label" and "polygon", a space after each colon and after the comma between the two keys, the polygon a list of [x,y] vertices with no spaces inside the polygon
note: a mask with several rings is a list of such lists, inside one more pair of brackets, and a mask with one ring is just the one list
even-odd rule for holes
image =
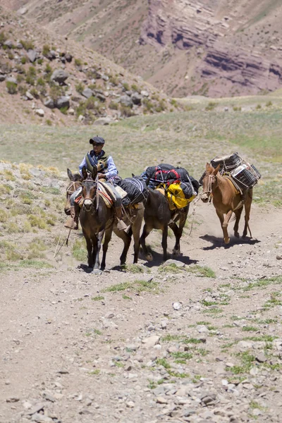
{"label": "light chestnut mule carrying crates, last in the line", "polygon": [[[227,226],[233,213],[235,214],[236,218],[234,225],[234,235],[239,237],[239,221],[242,214],[243,205],[245,205],[245,227],[243,231],[243,238],[245,238],[247,236],[247,229],[250,231],[249,219],[252,204],[252,189],[248,190],[245,203],[243,204],[242,196],[235,188],[231,180],[225,176],[221,176],[219,173],[219,166],[213,168],[209,163],[206,165],[206,174],[202,179],[202,185],[203,192],[201,199],[203,202],[212,200],[216,209],[216,214],[219,216],[219,220],[221,222],[225,244],[230,242]],[[252,238],[251,231],[250,237]]]}

